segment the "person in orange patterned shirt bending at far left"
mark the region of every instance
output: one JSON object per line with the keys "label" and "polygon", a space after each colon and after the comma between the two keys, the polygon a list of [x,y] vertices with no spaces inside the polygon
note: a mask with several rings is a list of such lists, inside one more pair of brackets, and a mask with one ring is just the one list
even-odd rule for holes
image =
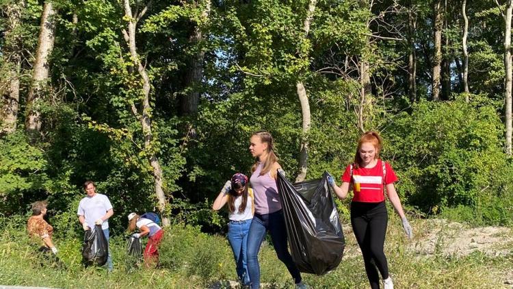
{"label": "person in orange patterned shirt bending at far left", "polygon": [[36,244],[39,244],[40,252],[57,254],[57,247],[52,242],[53,227],[44,221],[47,214],[47,202],[36,201],[32,204],[32,216],[27,221],[27,231]]}

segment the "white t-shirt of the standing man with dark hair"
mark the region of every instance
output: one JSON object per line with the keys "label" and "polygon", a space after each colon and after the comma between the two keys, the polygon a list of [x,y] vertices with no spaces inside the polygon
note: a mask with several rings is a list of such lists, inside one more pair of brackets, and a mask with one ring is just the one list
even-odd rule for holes
{"label": "white t-shirt of the standing man with dark hair", "polygon": [[[105,196],[105,194],[94,194],[93,197],[85,197],[80,200],[79,210],[77,210],[77,215],[84,216],[86,218],[86,224],[90,228],[94,227],[94,222],[105,216],[105,213],[112,209],[112,205],[109,201],[109,198]],[[102,229],[109,228],[109,221],[103,221],[101,225]]]}

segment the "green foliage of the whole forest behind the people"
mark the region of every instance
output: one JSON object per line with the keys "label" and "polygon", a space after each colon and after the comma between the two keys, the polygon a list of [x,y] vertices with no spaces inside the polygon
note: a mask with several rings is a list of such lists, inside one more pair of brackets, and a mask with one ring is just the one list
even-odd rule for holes
{"label": "green foliage of the whole forest behind the people", "polygon": [[[417,99],[431,97],[433,5],[426,1],[375,1],[369,7],[363,1],[320,0],[307,36],[306,0],[152,1],[135,32],[135,48],[150,77],[146,113],[153,138],[146,147],[133,114],[133,108],[141,113],[142,81],[123,34],[130,19],[122,5],[105,0],[54,2],[57,32],[41,106],[42,138],[25,138],[42,2],[24,1],[21,25],[9,32],[8,8],[14,3],[19,1],[0,1],[0,28],[6,32],[0,38],[1,92],[13,73],[21,77],[18,131],[0,137],[2,214],[26,214],[32,201],[48,199],[57,236],[77,238],[81,184],[93,179],[114,205],[110,224],[120,235],[127,213],[156,210],[148,163],[155,155],[174,221],[220,231],[226,218],[211,211],[210,202],[233,173],[250,173],[253,131],[273,134],[291,178],[298,171],[300,143],[308,140],[306,178],[329,171],[339,179],[361,133],[359,69],[365,61],[373,103],[365,126],[382,132],[383,156],[397,170],[408,210],[476,224],[511,223],[513,164],[503,153],[501,123],[503,21],[492,1],[467,3],[472,102],[458,95],[462,19],[460,3],[449,1],[443,58],[451,90],[445,99],[451,102],[412,106],[403,69],[412,47]],[[147,3],[131,1],[133,12]],[[407,31],[410,8],[415,32]],[[13,45],[20,48],[10,51]],[[14,52],[23,59],[20,71],[10,62]],[[202,60],[194,64],[198,56]],[[196,65],[202,66],[202,79],[188,83]],[[301,129],[298,81],[308,92],[308,134]],[[191,92],[201,95],[198,114],[184,116],[179,103]],[[338,203],[344,218],[348,202]]]}

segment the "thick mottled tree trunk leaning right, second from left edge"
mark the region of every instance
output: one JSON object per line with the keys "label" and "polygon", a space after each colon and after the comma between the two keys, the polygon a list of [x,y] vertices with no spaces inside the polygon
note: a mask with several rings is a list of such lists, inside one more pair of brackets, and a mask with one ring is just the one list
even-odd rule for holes
{"label": "thick mottled tree trunk leaning right, second from left edge", "polygon": [[32,84],[27,97],[27,119],[25,129],[31,138],[36,138],[41,132],[40,102],[47,94],[50,64],[49,55],[55,42],[55,10],[51,1],[45,1],[41,15],[38,49],[32,73]]}

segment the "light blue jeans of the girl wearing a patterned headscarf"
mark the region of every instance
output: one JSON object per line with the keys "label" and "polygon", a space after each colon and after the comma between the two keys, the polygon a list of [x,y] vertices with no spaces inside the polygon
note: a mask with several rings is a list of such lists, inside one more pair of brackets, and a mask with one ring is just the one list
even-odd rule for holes
{"label": "light blue jeans of the girl wearing a patterned headscarf", "polygon": [[244,285],[250,284],[250,275],[246,265],[246,251],[248,243],[248,232],[250,231],[251,219],[244,221],[230,221],[228,223],[228,241],[232,247],[235,264],[237,264],[237,276]]}

